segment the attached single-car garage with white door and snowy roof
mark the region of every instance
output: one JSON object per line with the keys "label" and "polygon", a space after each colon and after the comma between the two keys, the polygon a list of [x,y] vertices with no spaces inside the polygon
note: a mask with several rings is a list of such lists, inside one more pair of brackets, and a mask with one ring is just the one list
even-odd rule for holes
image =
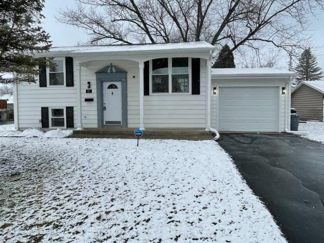
{"label": "attached single-car garage with white door and snowy roof", "polygon": [[290,78],[272,68],[212,69],[212,126],[220,132],[285,132]]}

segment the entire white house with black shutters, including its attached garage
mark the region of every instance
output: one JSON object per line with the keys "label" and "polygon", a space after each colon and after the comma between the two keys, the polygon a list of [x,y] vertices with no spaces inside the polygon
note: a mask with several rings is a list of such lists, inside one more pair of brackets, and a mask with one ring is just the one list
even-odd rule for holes
{"label": "entire white house with black shutters, including its attached garage", "polygon": [[285,132],[294,73],[212,70],[214,51],[206,42],[52,48],[38,56],[57,68],[15,86],[15,126]]}

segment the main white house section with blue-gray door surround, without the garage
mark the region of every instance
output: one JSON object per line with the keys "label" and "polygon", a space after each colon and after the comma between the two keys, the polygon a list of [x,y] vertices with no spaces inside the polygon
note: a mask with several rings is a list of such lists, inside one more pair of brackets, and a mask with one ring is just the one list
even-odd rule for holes
{"label": "main white house section with blue-gray door surround, without the garage", "polygon": [[15,126],[206,129],[213,51],[205,42],[53,48],[43,55],[57,70],[15,87]]}

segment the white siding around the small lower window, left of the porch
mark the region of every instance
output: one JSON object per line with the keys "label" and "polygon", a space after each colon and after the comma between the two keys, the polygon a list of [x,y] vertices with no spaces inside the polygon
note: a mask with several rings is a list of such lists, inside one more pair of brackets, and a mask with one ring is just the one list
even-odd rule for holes
{"label": "white siding around the small lower window, left of the porch", "polygon": [[75,126],[77,117],[76,85],[75,72],[74,87],[39,87],[38,77],[36,77],[35,83],[18,85],[17,107],[19,129],[41,128],[41,107],[73,106]]}

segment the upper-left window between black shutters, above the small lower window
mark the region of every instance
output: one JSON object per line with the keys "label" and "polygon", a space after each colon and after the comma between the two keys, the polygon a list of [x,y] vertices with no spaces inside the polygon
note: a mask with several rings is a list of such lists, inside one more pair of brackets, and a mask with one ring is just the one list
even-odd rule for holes
{"label": "upper-left window between black shutters, above the small lower window", "polygon": [[49,86],[65,85],[65,59],[55,58],[52,60],[53,66],[48,68]]}

